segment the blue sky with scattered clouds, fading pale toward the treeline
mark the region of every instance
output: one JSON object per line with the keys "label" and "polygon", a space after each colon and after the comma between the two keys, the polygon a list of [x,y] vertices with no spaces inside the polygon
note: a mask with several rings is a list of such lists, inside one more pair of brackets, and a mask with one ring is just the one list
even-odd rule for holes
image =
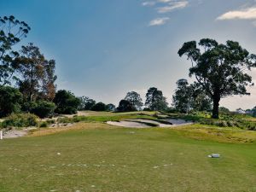
{"label": "blue sky with scattered clouds, fading pale toward the treeline", "polygon": [[[32,42],[55,59],[58,90],[115,105],[153,86],[172,103],[177,79],[193,82],[177,55],[184,42],[234,40],[256,54],[255,0],[0,0],[0,13],[31,26],[19,46]],[[248,90],[221,106],[253,108],[256,85]]]}

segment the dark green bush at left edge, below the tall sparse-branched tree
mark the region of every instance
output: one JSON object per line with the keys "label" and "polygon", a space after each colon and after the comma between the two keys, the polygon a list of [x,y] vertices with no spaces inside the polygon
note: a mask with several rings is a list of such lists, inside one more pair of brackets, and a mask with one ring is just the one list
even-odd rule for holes
{"label": "dark green bush at left edge, below the tall sparse-branched tree", "polygon": [[0,86],[0,117],[8,116],[10,113],[19,113],[21,98],[19,90],[9,86]]}

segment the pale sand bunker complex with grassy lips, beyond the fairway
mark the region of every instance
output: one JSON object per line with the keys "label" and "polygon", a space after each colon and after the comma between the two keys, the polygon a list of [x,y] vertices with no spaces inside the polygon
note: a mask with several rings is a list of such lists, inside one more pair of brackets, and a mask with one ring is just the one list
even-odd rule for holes
{"label": "pale sand bunker complex with grassy lips, beyond the fairway", "polygon": [[[148,127],[172,127],[182,125],[193,125],[191,121],[183,119],[165,119],[166,123],[161,123],[151,119],[129,119],[123,121],[108,121],[109,125],[131,127],[131,128],[148,128]],[[170,123],[170,124],[168,124]],[[150,125],[153,124],[153,125]]]}

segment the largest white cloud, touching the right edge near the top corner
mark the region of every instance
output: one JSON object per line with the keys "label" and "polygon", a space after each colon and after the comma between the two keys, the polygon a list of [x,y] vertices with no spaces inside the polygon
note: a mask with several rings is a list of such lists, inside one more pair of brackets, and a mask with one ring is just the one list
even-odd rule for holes
{"label": "largest white cloud, touching the right edge near the top corner", "polygon": [[253,20],[256,19],[256,7],[234,10],[220,15],[217,20]]}

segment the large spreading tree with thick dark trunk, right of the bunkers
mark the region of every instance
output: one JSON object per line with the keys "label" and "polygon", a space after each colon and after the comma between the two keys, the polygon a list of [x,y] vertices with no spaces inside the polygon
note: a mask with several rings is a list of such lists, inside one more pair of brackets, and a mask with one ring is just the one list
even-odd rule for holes
{"label": "large spreading tree with thick dark trunk, right of the bunkers", "polygon": [[249,54],[247,49],[234,41],[218,44],[217,41],[203,38],[199,42],[184,43],[178,55],[186,55],[192,62],[189,76],[195,79],[202,89],[212,98],[212,118],[218,119],[219,101],[224,96],[248,95],[246,86],[252,84],[252,77],[245,70],[256,66],[256,55]]}

